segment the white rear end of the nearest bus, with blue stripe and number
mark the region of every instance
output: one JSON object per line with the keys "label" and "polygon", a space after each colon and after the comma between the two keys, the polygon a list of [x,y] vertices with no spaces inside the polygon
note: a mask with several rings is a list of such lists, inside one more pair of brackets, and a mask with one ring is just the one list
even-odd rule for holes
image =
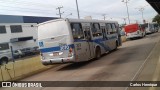
{"label": "white rear end of the nearest bus, with blue stripe and number", "polygon": [[38,25],[38,42],[44,65],[74,62],[74,45],[67,20]]}

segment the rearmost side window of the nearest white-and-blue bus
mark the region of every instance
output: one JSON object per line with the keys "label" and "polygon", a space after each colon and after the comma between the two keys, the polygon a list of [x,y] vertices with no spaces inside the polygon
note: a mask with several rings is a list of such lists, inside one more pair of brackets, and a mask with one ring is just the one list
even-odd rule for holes
{"label": "rearmost side window of the nearest white-and-blue bus", "polygon": [[72,23],[71,29],[74,39],[84,39],[83,30],[80,23]]}

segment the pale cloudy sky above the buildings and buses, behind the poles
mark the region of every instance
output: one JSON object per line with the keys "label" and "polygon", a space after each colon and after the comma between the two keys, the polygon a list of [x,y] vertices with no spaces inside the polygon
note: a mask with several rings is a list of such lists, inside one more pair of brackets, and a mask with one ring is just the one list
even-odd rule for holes
{"label": "pale cloudy sky above the buildings and buses, behind the poles", "polygon": [[[124,23],[127,17],[125,3],[122,0],[77,0],[80,17],[92,16],[93,19],[103,19],[106,14],[107,20],[117,20]],[[59,17],[57,7],[61,9],[62,17],[77,18],[76,0],[0,0],[0,14],[2,15],[25,15],[25,16],[49,16]],[[129,0],[129,15],[131,23],[136,20],[142,22],[142,14],[136,8],[144,7],[144,18],[150,22],[157,12],[146,0]],[[72,15],[69,15],[72,13]],[[128,23],[128,20],[127,20]]]}

